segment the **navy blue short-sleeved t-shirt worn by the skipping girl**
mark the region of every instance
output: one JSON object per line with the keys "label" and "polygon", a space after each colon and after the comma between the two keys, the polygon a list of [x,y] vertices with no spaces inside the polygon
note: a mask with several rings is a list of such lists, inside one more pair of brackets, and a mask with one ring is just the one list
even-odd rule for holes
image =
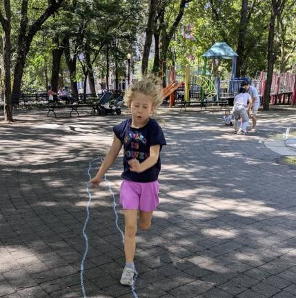
{"label": "navy blue short-sleeved t-shirt worn by the skipping girl", "polygon": [[139,163],[143,162],[149,157],[150,146],[160,145],[161,150],[161,147],[166,145],[164,132],[155,119],[149,119],[142,128],[133,128],[131,123],[132,119],[129,118],[113,128],[116,137],[124,144],[124,172],[121,178],[135,182],[155,181],[161,168],[160,157],[154,166],[140,173],[131,172],[128,161],[137,159]]}

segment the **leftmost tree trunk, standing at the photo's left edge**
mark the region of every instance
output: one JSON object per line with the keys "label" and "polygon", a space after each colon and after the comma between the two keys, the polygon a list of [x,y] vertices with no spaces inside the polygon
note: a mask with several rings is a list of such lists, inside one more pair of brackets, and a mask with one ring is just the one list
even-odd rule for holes
{"label": "leftmost tree trunk, standing at the photo's left edge", "polygon": [[10,0],[4,1],[5,17],[3,14],[0,15],[1,26],[3,28],[2,41],[3,41],[3,67],[4,67],[4,120],[13,121],[12,117],[12,99],[11,99],[11,10]]}

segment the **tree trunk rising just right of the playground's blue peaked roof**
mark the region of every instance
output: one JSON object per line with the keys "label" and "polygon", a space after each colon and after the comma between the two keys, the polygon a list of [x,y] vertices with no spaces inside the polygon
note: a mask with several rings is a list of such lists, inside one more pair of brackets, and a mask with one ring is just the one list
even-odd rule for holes
{"label": "tree trunk rising just right of the playground's blue peaked roof", "polygon": [[237,41],[237,54],[239,56],[237,57],[237,71],[235,74],[236,77],[241,77],[245,75],[245,73],[243,72],[244,68],[242,66],[244,65],[244,61],[245,61],[244,43],[245,43],[247,27],[248,27],[248,0],[242,0],[241,1],[241,19],[239,23],[239,38]]}

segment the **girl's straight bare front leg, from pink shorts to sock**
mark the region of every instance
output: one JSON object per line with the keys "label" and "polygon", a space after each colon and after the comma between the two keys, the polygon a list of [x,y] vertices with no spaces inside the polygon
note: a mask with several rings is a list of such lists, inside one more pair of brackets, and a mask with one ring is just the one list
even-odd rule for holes
{"label": "girl's straight bare front leg, from pink shorts to sock", "polygon": [[132,263],[135,257],[137,216],[138,210],[124,210],[124,252],[128,263]]}

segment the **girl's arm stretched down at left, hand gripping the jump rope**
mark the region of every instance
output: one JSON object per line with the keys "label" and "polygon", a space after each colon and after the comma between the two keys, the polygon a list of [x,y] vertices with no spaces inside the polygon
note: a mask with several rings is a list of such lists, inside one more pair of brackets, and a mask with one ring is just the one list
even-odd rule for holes
{"label": "girl's arm stretched down at left, hand gripping the jump rope", "polygon": [[99,183],[103,179],[103,175],[109,170],[110,166],[114,163],[117,155],[119,154],[119,151],[121,150],[122,143],[121,141],[114,136],[112,146],[107,153],[106,157],[103,159],[103,163],[101,164],[101,167],[99,168],[99,171],[97,172],[97,175],[95,175],[94,178],[90,179],[88,183],[92,183],[93,187],[99,187]]}

